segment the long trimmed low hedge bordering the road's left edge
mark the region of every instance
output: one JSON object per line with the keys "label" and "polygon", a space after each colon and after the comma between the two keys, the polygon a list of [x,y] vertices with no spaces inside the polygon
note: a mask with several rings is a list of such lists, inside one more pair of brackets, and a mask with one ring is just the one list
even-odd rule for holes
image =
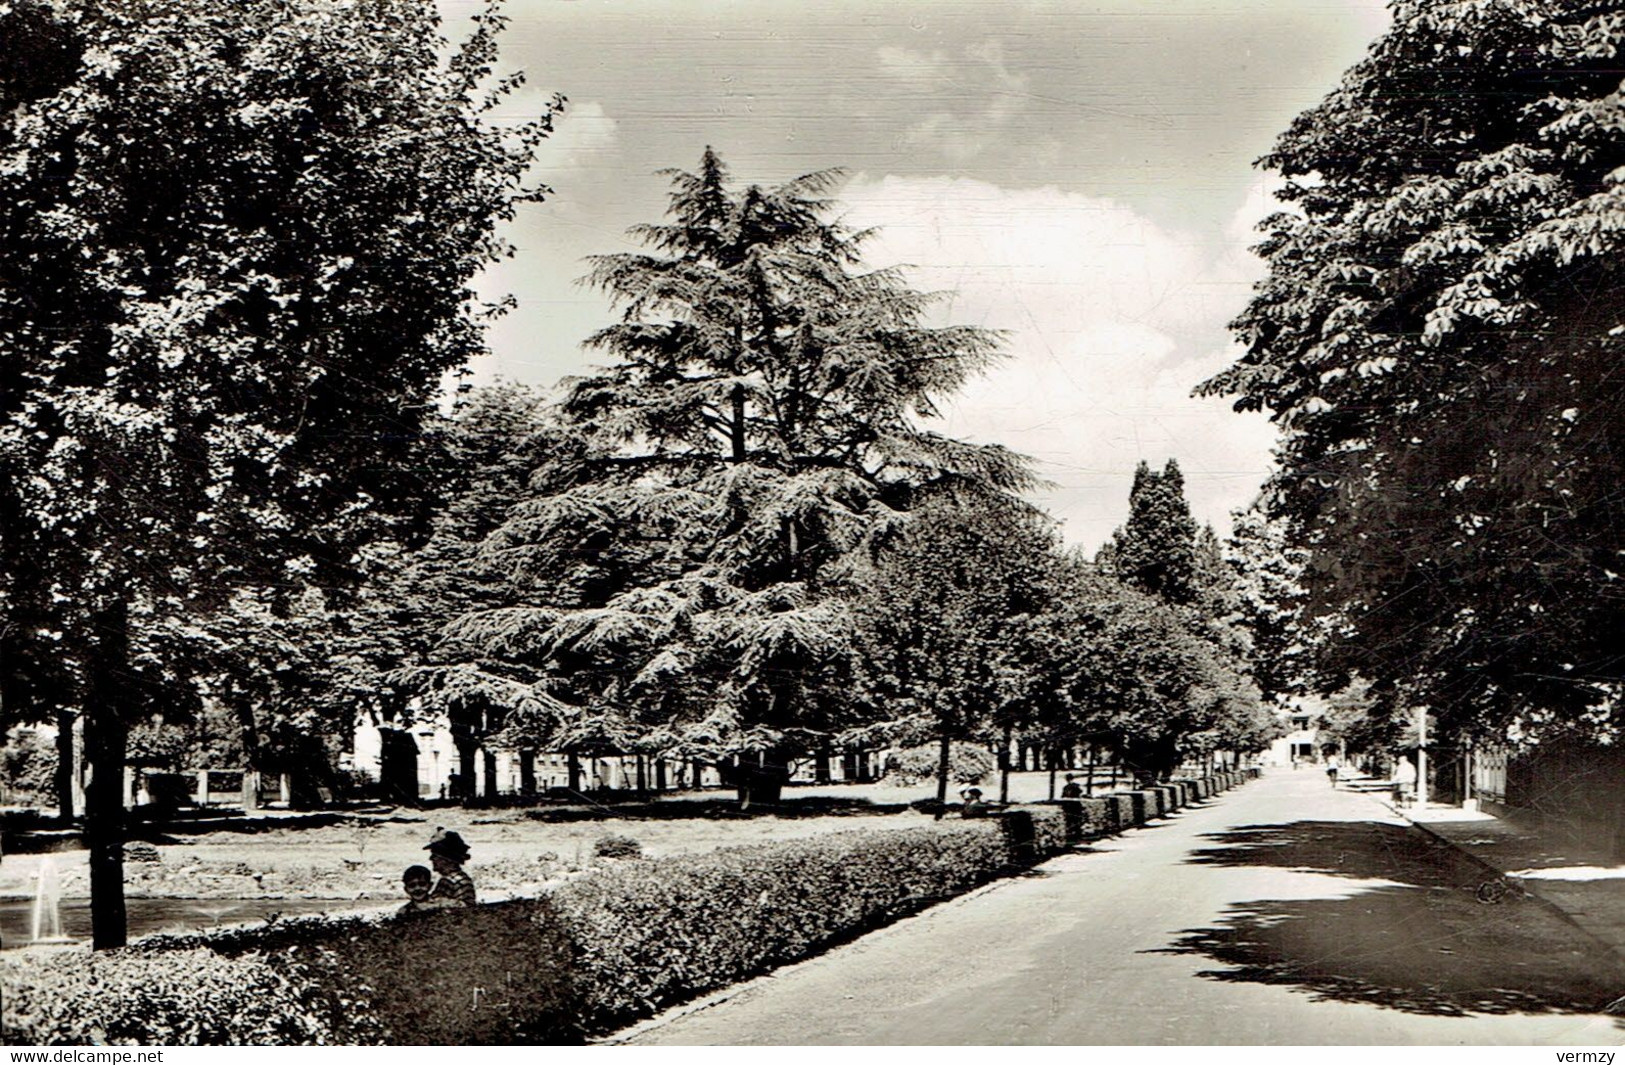
{"label": "long trimmed low hedge bordering the road's left edge", "polygon": [[923,828],[618,860],[468,911],[148,937],[10,961],[15,1044],[546,1044],[806,958],[1232,787],[1217,774]]}

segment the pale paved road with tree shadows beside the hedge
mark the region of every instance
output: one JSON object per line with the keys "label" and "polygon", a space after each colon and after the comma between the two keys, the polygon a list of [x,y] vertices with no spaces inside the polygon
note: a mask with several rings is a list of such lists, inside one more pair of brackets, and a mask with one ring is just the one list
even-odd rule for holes
{"label": "pale paved road with tree shadows beside the hedge", "polygon": [[1277,771],[626,1032],[637,1044],[1618,1044],[1625,971]]}

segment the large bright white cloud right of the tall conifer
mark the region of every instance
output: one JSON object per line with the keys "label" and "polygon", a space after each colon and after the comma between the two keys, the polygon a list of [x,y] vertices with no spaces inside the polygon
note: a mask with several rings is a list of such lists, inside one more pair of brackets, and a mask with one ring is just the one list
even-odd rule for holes
{"label": "large bright white cloud right of the tall conifer", "polygon": [[843,198],[852,223],[881,226],[869,262],[913,265],[921,288],[952,294],[952,322],[1009,330],[1011,358],[951,403],[944,429],[1038,459],[1068,540],[1092,548],[1121,524],[1141,460],[1178,459],[1198,519],[1220,530],[1251,499],[1271,428],[1190,397],[1235,356],[1224,324],[1258,272],[1245,242],[967,179],[858,179]]}

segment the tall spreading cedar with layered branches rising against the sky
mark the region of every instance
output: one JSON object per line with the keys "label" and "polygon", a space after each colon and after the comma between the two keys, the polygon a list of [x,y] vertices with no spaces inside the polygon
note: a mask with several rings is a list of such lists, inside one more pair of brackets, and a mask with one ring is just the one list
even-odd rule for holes
{"label": "tall spreading cedar with layered branches rising against the sky", "polygon": [[622,320],[564,402],[577,439],[488,541],[510,603],[448,626],[416,680],[536,743],[738,758],[741,793],[772,800],[850,724],[850,559],[923,491],[1025,472],[918,428],[998,340],[923,325],[931,296],[861,268],[838,172],[734,189],[707,150],[670,177],[670,221],[634,229],[650,250],[593,260]]}

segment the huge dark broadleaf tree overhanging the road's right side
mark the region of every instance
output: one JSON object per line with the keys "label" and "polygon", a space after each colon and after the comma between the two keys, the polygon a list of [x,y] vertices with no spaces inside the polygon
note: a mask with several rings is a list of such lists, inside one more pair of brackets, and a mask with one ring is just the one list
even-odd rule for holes
{"label": "huge dark broadleaf tree overhanging the road's right side", "polygon": [[1458,732],[1618,707],[1622,41],[1615,3],[1396,5],[1263,159],[1294,210],[1202,387],[1282,428],[1328,685]]}

